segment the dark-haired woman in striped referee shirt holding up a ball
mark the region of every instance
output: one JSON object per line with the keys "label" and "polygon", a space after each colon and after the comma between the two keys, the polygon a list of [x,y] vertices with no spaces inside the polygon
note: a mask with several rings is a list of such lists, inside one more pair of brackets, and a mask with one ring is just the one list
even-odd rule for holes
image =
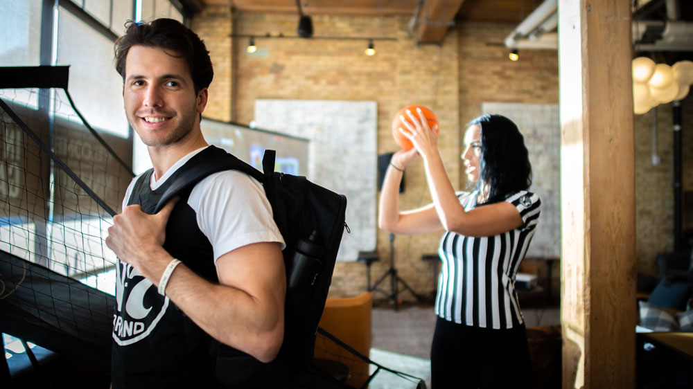
{"label": "dark-haired woman in striped referee shirt holding up a ball", "polygon": [[[471,192],[455,193],[437,148],[437,135],[421,111],[401,117],[399,131],[414,148],[392,156],[380,195],[378,224],[404,235],[444,229],[443,262],[431,347],[432,386],[525,388],[532,366],[515,275],[534,235],[541,201],[527,192],[532,166],[522,134],[505,116],[468,124],[462,159]],[[433,203],[400,212],[403,172],[423,158]]]}

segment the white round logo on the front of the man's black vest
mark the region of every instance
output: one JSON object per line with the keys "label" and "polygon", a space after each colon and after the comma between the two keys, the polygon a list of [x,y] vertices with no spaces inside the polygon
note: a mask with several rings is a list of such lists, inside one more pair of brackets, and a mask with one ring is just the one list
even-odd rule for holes
{"label": "white round logo on the front of the man's black vest", "polygon": [[[125,300],[125,304],[123,304]],[[121,346],[146,338],[166,313],[168,298],[130,264],[116,264],[116,314],[113,338]]]}

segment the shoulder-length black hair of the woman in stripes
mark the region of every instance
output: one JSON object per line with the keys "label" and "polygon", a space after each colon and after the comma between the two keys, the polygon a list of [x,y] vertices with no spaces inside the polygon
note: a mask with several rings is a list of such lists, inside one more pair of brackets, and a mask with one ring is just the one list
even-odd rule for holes
{"label": "shoulder-length black hair of the woman in stripes", "polygon": [[481,127],[481,158],[476,190],[489,194],[484,204],[504,201],[519,190],[532,185],[532,164],[529,163],[525,138],[512,120],[502,115],[482,115],[467,127]]}

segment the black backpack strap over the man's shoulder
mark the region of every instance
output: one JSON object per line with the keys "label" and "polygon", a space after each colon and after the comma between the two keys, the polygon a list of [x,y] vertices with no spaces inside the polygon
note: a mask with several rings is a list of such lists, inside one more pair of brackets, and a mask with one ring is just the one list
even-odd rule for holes
{"label": "black backpack strap over the man's shoulder", "polygon": [[[265,176],[263,176],[261,172],[251,165],[240,161],[240,159],[235,156],[225,152],[225,150],[214,146],[209,146],[206,150],[195,155],[193,159],[188,161],[181,169],[185,169],[185,171],[173,181],[166,192],[161,195],[161,199],[159,199],[159,203],[157,203],[154,210],[155,213],[159,212],[161,208],[164,208],[166,203],[177,194],[181,193],[183,190],[192,188],[196,183],[213,173],[222,172],[224,170],[240,170],[261,183],[265,182]],[[265,188],[265,190],[267,189]]]}

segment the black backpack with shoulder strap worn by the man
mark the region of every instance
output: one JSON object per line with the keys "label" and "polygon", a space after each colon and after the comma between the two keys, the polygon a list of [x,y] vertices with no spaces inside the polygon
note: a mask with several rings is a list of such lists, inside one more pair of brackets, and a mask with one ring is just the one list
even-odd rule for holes
{"label": "black backpack with shoulder strap worn by the man", "polygon": [[263,183],[274,221],[286,242],[283,256],[287,291],[279,359],[292,372],[300,374],[313,359],[317,325],[347,226],[344,221],[347,197],[306,177],[274,172],[274,150],[265,150],[263,174],[218,147],[208,149],[211,150],[205,150],[208,157],[202,163],[185,172],[164,192],[155,212],[182,190],[223,170],[240,170]]}

